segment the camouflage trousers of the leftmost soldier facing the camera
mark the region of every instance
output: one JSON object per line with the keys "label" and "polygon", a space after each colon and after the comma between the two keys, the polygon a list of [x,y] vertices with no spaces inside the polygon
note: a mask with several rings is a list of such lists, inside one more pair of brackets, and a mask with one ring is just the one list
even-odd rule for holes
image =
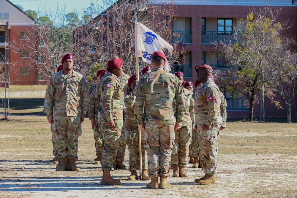
{"label": "camouflage trousers of the leftmost soldier facing the camera", "polygon": [[57,138],[57,156],[78,159],[78,137],[82,132],[80,115],[77,117],[54,116],[53,135]]}

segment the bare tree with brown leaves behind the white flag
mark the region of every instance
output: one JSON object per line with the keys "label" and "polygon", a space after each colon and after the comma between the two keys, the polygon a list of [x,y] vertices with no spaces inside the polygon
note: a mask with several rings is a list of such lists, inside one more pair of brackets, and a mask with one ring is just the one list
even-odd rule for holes
{"label": "bare tree with brown leaves behind the white flag", "polygon": [[[124,60],[125,72],[129,75],[135,73],[135,19],[167,42],[172,42],[172,3],[160,5],[146,0],[114,3],[112,0],[104,0],[101,5],[104,6],[92,4],[85,10],[90,16],[97,15],[90,24],[92,34],[95,35],[94,50],[99,64],[106,64],[108,59],[120,56]],[[165,52],[169,62],[174,62],[180,53],[184,53],[183,46],[177,44],[174,43],[172,56]]]}

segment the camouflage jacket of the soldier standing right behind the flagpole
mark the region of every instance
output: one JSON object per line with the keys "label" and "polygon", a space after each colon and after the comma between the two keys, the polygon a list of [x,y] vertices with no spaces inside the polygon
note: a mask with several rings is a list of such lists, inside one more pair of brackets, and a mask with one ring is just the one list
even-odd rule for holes
{"label": "camouflage jacket of the soldier standing right behind the flagpole", "polygon": [[136,116],[134,114],[134,106],[135,106],[134,104],[136,99],[135,91],[133,90],[129,93],[126,93],[124,98],[125,98],[124,105],[125,107],[127,107],[125,125],[138,127]]}

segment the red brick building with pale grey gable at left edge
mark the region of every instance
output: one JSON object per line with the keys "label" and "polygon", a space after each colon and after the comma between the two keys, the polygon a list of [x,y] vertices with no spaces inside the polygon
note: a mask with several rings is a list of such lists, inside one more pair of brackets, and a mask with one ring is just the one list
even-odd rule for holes
{"label": "red brick building with pale grey gable at left edge", "polygon": [[45,84],[43,75],[32,69],[42,60],[28,55],[29,48],[35,48],[28,46],[34,20],[8,0],[0,0],[0,5],[0,85],[4,84],[3,67],[6,72],[10,68],[8,81],[12,85]]}

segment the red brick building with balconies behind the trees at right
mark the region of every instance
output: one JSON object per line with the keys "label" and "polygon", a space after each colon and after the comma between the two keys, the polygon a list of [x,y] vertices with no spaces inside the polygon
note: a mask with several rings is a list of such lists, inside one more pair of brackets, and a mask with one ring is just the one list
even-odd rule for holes
{"label": "red brick building with balconies behind the trees at right", "polygon": [[[157,1],[156,3],[161,3]],[[227,69],[214,50],[211,42],[224,40],[226,32],[232,31],[233,26],[238,26],[238,20],[246,19],[249,12],[263,6],[260,0],[212,0],[212,1],[174,1],[176,20],[172,23],[172,31],[180,32],[181,42],[186,50],[186,60],[183,68],[173,66],[173,71],[184,72],[185,80],[195,82],[197,73],[195,65],[208,64],[213,69]],[[287,35],[297,36],[297,0],[274,0],[269,1],[270,6],[277,9],[282,8],[279,20],[289,20],[292,27],[287,30]],[[238,27],[244,28],[244,27]],[[297,96],[296,96],[297,97]],[[243,99],[230,100],[228,94],[227,110],[228,118],[248,118],[248,108],[243,105]],[[285,105],[282,99],[277,98],[284,109],[277,109],[271,101],[266,98],[266,118],[286,118]],[[255,104],[254,116],[259,117],[260,105]],[[297,118],[297,102],[292,107],[292,118]]]}

